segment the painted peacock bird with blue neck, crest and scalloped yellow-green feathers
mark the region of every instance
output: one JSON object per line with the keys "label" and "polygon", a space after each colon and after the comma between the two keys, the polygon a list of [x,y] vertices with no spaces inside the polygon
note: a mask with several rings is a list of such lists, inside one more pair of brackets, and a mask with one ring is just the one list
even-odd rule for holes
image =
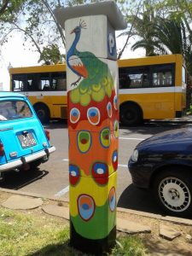
{"label": "painted peacock bird with blue neck, crest and scalloped yellow-green feathers", "polygon": [[86,29],[84,20],[80,20],[79,26],[71,32],[75,38],[67,52],[67,66],[78,76],[71,84],[76,88],[70,92],[70,99],[73,103],[87,106],[91,100],[101,102],[105,96],[112,95],[113,78],[105,62],[89,51],[77,49],[82,29]]}

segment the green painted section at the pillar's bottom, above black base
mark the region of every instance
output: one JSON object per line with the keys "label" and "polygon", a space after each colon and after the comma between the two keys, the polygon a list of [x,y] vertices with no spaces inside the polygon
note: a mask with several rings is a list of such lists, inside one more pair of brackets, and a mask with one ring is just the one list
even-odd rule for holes
{"label": "green painted section at the pillar's bottom, above black base", "polygon": [[108,236],[116,224],[116,209],[111,212],[108,201],[102,207],[96,207],[94,216],[89,221],[84,221],[79,217],[72,217],[76,232],[88,239],[102,239]]}

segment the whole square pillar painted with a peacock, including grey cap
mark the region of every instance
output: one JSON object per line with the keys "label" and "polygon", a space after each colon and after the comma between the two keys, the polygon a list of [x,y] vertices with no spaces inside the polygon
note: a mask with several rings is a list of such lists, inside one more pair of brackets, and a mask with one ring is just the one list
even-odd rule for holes
{"label": "whole square pillar painted with a peacock, including grey cap", "polygon": [[118,66],[115,29],[126,24],[112,1],[59,9],[67,40],[70,241],[102,253],[116,238]]}

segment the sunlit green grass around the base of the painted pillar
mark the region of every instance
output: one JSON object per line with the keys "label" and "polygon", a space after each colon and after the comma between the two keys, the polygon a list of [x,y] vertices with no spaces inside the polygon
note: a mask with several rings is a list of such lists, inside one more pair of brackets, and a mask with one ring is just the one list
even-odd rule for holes
{"label": "sunlit green grass around the base of the painted pillar", "polygon": [[[143,242],[136,236],[119,237],[108,255],[147,255]],[[57,218],[44,217],[0,208],[1,256],[77,256],[69,246],[69,227]]]}

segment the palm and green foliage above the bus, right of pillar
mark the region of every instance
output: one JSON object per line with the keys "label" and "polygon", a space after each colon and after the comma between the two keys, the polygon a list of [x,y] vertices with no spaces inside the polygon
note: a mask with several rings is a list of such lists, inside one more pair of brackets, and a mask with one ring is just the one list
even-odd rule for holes
{"label": "palm and green foliage above the bus, right of pillar", "polygon": [[[189,0],[141,1],[137,14],[127,16],[138,39],[132,50],[143,48],[146,55],[182,54],[192,75],[192,3]],[[129,33],[129,32],[127,32]]]}

